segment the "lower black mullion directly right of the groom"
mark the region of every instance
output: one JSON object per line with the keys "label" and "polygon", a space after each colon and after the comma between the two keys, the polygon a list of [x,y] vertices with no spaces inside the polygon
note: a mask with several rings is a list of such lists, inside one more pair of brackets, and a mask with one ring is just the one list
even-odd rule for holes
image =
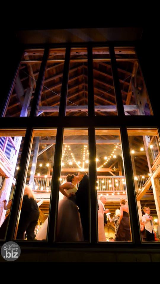
{"label": "lower black mullion directly right of the groom", "polygon": [[96,191],[96,145],[95,145],[95,128],[89,127],[89,213],[90,213],[90,239],[91,243],[97,243],[97,191]]}

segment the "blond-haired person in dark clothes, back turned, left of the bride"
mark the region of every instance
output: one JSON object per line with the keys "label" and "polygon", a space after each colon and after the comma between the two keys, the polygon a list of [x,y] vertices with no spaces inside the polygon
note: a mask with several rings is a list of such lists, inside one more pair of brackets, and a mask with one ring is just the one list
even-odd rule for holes
{"label": "blond-haired person in dark clothes, back turned, left of the bride", "polygon": [[23,203],[21,208],[20,220],[17,231],[17,239],[24,240],[25,231],[27,240],[34,240],[34,229],[39,218],[39,209],[31,188],[25,185]]}

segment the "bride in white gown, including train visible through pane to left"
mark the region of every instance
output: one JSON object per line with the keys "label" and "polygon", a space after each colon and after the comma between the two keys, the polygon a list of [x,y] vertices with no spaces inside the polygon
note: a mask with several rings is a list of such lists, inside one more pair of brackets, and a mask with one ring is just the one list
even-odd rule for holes
{"label": "bride in white gown, including train visible through pane to left", "polygon": [[[78,178],[71,174],[68,175],[65,182],[60,186],[60,192],[63,199],[59,200],[56,241],[58,242],[78,242],[84,241],[83,229],[81,225],[80,214],[76,205],[76,184]],[[48,217],[43,223],[37,240],[46,240],[47,238]]]}

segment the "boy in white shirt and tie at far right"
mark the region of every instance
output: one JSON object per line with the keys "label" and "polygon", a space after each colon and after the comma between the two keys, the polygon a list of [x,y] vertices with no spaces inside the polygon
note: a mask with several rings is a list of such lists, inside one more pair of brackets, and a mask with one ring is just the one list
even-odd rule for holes
{"label": "boy in white shirt and tie at far right", "polygon": [[142,222],[145,225],[146,241],[154,242],[153,217],[150,216],[150,208],[144,207],[143,211],[145,215],[142,216]]}

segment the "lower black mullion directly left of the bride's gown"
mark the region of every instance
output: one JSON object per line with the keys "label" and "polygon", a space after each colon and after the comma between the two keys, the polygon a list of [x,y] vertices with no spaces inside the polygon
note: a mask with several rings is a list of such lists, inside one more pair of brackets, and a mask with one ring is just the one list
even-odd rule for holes
{"label": "lower black mullion directly left of the bride's gown", "polygon": [[63,128],[57,129],[56,143],[55,143],[55,157],[52,173],[52,185],[51,185],[51,206],[48,222],[48,243],[52,244],[55,241],[56,235],[56,217],[58,210],[58,197],[60,187],[60,170],[61,170],[61,155],[63,148]]}

